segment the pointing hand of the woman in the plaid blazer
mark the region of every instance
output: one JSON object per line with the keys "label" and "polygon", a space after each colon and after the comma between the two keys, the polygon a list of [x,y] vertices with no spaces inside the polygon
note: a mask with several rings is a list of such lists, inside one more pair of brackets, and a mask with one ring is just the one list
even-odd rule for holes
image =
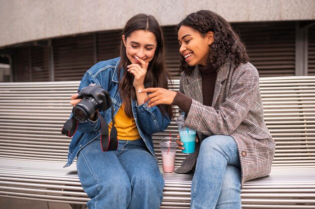
{"label": "pointing hand of the woman in the plaid blazer", "polygon": [[144,99],[144,102],[147,102],[148,107],[154,107],[157,104],[172,104],[173,100],[176,96],[175,91],[170,91],[165,88],[145,88],[142,90],[138,90],[139,93],[147,93],[150,92]]}

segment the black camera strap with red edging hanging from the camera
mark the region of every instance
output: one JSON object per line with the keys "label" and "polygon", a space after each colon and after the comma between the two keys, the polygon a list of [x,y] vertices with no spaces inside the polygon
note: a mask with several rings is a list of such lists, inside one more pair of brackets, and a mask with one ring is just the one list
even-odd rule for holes
{"label": "black camera strap with red edging hanging from the camera", "polygon": [[[114,120],[114,108],[112,108],[112,129],[110,135],[108,134],[108,126],[105,119],[102,115],[98,112],[98,117],[101,120],[101,148],[103,152],[106,151],[115,151],[118,148],[118,139],[117,139],[117,129],[115,127],[115,120]],[[65,122],[62,127],[61,133],[66,135],[67,137],[72,137],[77,129],[78,121],[73,116],[70,120]],[[105,125],[106,124],[106,125]]]}

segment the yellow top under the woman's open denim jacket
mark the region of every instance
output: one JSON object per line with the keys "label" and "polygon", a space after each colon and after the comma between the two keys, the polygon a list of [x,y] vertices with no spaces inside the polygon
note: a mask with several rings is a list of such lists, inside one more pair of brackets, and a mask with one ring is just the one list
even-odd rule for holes
{"label": "yellow top under the woman's open denim jacket", "polygon": [[[121,104],[116,116],[115,116],[115,127],[117,129],[117,138],[119,140],[136,140],[140,139],[140,134],[137,129],[134,118],[129,118],[124,111],[125,103]],[[111,131],[113,122],[108,125],[109,132]]]}

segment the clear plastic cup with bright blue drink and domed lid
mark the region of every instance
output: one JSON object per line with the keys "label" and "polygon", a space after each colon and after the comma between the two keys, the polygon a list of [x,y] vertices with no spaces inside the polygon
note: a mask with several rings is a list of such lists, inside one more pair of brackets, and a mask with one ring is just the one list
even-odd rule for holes
{"label": "clear plastic cup with bright blue drink and domed lid", "polygon": [[184,126],[185,123],[184,113],[181,113],[178,116],[176,123],[178,125],[178,131],[179,136],[181,138],[181,142],[183,142],[184,144],[182,147],[185,148],[182,150],[182,152],[187,154],[195,152],[196,130]]}

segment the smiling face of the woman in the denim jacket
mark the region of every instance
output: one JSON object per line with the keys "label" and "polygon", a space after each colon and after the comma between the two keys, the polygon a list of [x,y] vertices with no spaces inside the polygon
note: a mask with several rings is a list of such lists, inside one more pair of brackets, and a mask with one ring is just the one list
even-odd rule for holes
{"label": "smiling face of the woman in the denim jacket", "polygon": [[122,35],[122,40],[126,47],[126,55],[132,64],[140,64],[135,57],[139,57],[145,62],[153,59],[156,50],[156,38],[150,31],[137,30],[130,36]]}

